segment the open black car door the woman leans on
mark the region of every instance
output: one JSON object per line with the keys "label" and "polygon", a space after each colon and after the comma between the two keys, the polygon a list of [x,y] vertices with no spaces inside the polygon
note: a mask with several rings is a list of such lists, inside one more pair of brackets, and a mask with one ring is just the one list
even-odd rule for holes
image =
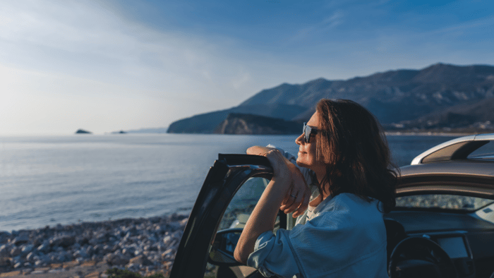
{"label": "open black car door the woman leans on", "polygon": [[[241,227],[272,177],[266,157],[257,155],[219,155],[200,190],[184,230],[171,278],[205,277],[211,272],[207,264],[217,231]],[[243,196],[241,195],[243,189]],[[250,198],[243,198],[243,197]],[[249,199],[249,202],[243,200]],[[243,208],[239,209],[243,204]],[[227,210],[228,209],[228,210]],[[232,212],[245,212],[233,213]],[[286,215],[279,217],[279,226],[286,227]],[[231,265],[231,264],[230,264]],[[215,276],[213,276],[215,277]]]}

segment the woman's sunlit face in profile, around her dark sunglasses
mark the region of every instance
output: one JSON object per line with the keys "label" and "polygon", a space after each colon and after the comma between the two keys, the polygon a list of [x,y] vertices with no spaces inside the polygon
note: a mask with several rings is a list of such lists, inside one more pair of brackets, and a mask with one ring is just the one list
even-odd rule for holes
{"label": "woman's sunlit face in profile, around her dark sunglasses", "polygon": [[[307,126],[312,126],[319,129],[319,116],[317,111],[311,116],[311,119],[307,122]],[[325,164],[323,162],[319,162],[315,157],[315,147],[317,145],[316,140],[315,135],[311,135],[309,142],[306,143],[303,133],[296,138],[295,143],[299,145],[299,155],[296,159],[296,164],[315,171],[317,176],[324,176],[326,172]]]}

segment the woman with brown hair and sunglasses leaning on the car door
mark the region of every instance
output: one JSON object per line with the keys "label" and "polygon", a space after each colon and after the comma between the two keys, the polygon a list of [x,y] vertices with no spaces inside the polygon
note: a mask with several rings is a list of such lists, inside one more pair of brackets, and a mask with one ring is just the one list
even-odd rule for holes
{"label": "woman with brown hair and sunglasses leaning on the car door", "polygon": [[[248,149],[265,155],[274,174],[236,260],[265,277],[387,277],[382,212],[395,205],[397,173],[378,121],[350,100],[322,99],[295,142],[298,166],[279,150]],[[317,186],[315,195],[307,183]],[[294,229],[273,234],[279,209],[299,217]]]}

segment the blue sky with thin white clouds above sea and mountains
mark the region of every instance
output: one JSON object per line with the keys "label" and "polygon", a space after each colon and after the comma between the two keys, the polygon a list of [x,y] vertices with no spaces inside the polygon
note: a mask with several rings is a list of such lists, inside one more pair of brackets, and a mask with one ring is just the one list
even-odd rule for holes
{"label": "blue sky with thin white clouds above sea and mountains", "polygon": [[2,0],[0,135],[166,127],[436,63],[494,65],[494,1]]}

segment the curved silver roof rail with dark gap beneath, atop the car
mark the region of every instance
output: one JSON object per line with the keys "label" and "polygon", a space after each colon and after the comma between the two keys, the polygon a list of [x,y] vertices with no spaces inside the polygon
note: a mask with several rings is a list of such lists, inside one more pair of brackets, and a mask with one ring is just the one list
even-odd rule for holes
{"label": "curved silver roof rail with dark gap beneath, atop the car", "polygon": [[494,133],[468,135],[431,147],[411,161],[411,165],[466,159],[474,150],[494,140]]}

